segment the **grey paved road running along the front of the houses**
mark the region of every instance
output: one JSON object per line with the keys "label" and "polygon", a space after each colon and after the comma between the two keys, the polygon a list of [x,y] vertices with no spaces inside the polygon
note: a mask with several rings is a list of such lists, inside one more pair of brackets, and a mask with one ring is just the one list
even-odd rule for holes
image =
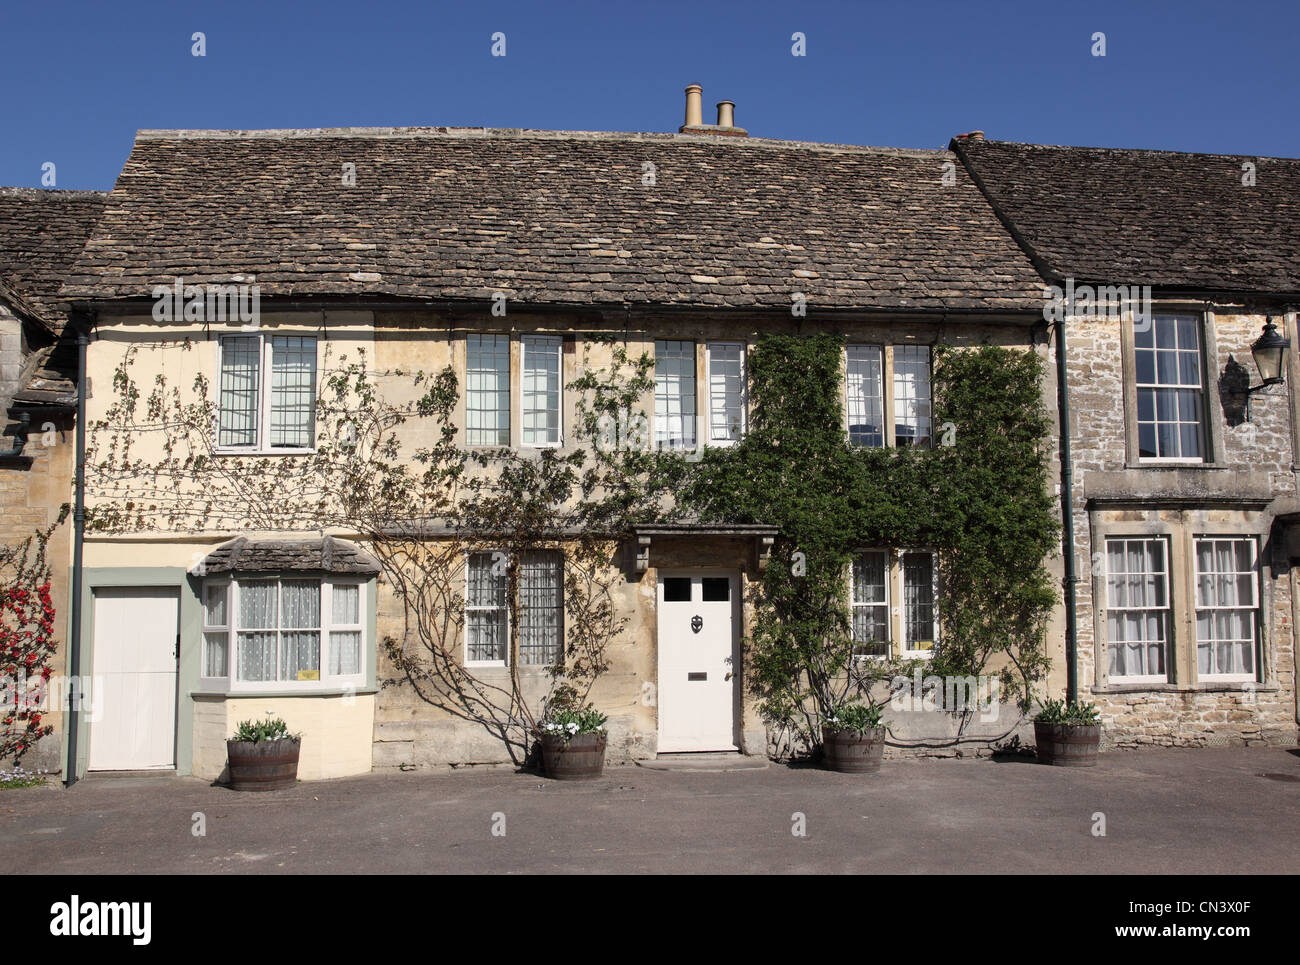
{"label": "grey paved road running along the front of the houses", "polygon": [[477,770],[263,795],[152,776],[0,791],[0,864],[61,874],[1295,874],[1297,828],[1300,754],[1275,748],[1117,752],[1079,770],[946,760],[875,775],[619,766],[586,784]]}

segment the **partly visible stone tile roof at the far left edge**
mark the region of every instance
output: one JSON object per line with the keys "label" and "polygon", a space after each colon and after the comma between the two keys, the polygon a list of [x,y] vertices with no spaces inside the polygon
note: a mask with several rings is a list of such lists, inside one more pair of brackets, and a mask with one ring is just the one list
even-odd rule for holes
{"label": "partly visible stone tile roof at the far left edge", "polygon": [[0,284],[55,332],[65,317],[58,289],[107,198],[104,191],[0,187]]}

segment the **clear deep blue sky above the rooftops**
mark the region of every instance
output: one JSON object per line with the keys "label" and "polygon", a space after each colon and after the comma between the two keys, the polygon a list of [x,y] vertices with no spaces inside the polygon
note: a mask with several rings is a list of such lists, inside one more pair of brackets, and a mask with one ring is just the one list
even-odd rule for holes
{"label": "clear deep blue sky above the rooftops", "polygon": [[671,131],[688,83],[771,138],[1295,157],[1297,29],[1295,0],[10,0],[0,183],[110,187],[142,127]]}

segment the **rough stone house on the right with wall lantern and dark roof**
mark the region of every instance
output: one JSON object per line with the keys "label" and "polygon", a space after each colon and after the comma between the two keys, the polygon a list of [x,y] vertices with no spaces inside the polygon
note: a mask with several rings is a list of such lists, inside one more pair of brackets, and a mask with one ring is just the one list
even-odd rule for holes
{"label": "rough stone house on the right with wall lantern and dark roof", "polygon": [[1300,161],[952,148],[1063,319],[1079,694],[1122,747],[1294,744]]}

